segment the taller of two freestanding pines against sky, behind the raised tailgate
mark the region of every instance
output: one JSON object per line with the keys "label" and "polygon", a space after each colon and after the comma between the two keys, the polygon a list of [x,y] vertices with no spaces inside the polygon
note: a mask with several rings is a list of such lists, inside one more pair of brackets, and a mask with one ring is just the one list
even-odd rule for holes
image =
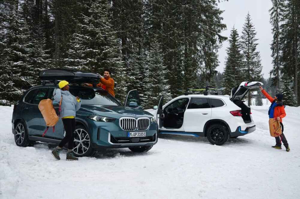
{"label": "taller of two freestanding pines against sky, behind the raised tailgate", "polygon": [[[244,55],[244,79],[247,81],[257,81],[261,77],[262,66],[260,63],[259,52],[256,51],[256,31],[251,22],[250,14],[248,13],[243,26],[241,43],[242,52]],[[259,78],[259,79],[257,79]],[[251,92],[248,93],[248,105],[251,105]]]}

